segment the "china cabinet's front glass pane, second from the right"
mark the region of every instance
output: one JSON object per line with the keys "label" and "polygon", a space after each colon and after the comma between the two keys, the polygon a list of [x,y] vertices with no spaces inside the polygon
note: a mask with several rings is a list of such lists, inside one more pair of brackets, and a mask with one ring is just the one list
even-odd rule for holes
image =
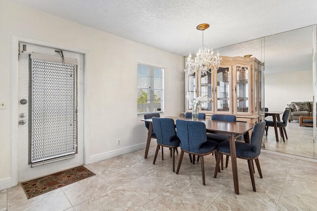
{"label": "china cabinet's front glass pane, second from the right", "polygon": [[230,70],[229,67],[219,67],[216,75],[216,99],[217,111],[230,112]]}

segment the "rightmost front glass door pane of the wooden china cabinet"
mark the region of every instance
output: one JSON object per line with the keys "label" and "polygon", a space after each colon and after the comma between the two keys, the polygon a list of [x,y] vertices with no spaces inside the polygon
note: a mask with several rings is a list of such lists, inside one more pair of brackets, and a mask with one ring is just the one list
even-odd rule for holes
{"label": "rightmost front glass door pane of the wooden china cabinet", "polygon": [[236,111],[237,113],[249,113],[250,109],[250,67],[249,66],[235,66],[236,67]]}

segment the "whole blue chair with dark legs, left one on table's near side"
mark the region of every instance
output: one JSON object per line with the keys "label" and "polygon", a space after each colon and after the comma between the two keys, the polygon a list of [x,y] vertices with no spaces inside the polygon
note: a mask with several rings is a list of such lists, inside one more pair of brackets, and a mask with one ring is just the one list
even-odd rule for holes
{"label": "whole blue chair with dark legs, left one on table's near side", "polygon": [[173,172],[175,171],[175,149],[179,147],[179,138],[176,136],[175,123],[171,118],[159,118],[153,117],[153,130],[157,136],[157,149],[155,151],[155,156],[153,164],[158,157],[159,148],[161,146],[162,160],[163,157],[163,147],[168,147],[172,150],[172,160],[173,160]]}

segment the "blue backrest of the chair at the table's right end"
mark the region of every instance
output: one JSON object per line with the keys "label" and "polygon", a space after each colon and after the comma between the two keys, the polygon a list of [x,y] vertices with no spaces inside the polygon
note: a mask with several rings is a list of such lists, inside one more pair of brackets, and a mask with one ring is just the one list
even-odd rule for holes
{"label": "blue backrest of the chair at the table's right end", "polygon": [[255,152],[256,156],[260,155],[261,146],[262,146],[262,138],[265,129],[265,121],[262,120],[254,125],[251,135],[251,146],[252,151]]}

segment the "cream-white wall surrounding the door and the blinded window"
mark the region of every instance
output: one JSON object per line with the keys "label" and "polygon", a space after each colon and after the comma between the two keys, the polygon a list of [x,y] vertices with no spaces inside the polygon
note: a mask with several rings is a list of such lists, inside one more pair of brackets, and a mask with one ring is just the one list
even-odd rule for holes
{"label": "cream-white wall surrounding the door and the blinded window", "polygon": [[[15,112],[18,103],[17,99],[11,99],[15,94],[12,93],[15,90],[11,90],[12,80],[15,80],[11,72],[16,71],[12,69],[14,65],[11,66],[11,60],[14,61],[14,57],[11,58],[13,35],[87,52],[86,163],[145,146],[147,131],[142,117],[137,117],[136,113],[138,61],[165,68],[164,115],[179,115],[182,111],[182,56],[0,0],[0,102],[7,106],[0,109],[0,190],[10,186],[11,144],[16,141],[15,127],[11,126],[17,120],[11,113]],[[121,139],[119,146],[117,139]]]}

